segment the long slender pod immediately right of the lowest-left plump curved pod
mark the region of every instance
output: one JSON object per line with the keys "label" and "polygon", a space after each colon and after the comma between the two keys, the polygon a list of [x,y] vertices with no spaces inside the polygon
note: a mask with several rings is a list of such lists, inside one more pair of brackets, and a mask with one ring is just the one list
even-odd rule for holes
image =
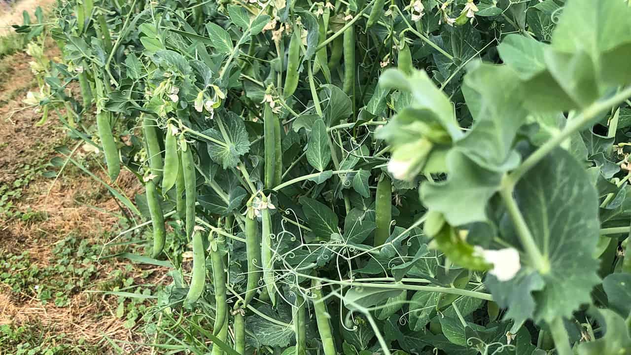
{"label": "long slender pod immediately right of the lowest-left plump curved pod", "polygon": [[[213,334],[219,335],[228,318],[228,303],[226,294],[226,273],[223,265],[223,255],[221,246],[223,239],[215,238],[211,232],[208,236],[210,241],[210,259],[213,263],[213,286],[215,287],[215,328]],[[227,327],[225,327],[227,328]],[[223,339],[222,339],[223,340]],[[213,352],[215,347],[213,347]]]}

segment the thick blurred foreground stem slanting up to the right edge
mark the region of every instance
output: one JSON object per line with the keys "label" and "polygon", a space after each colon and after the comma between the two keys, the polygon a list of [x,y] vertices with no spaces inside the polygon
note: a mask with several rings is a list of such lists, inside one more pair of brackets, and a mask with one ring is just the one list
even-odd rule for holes
{"label": "thick blurred foreground stem slanting up to the right edge", "polygon": [[557,135],[553,136],[550,140],[546,141],[541,147],[532,153],[528,159],[524,160],[524,162],[517,167],[513,172],[507,176],[507,183],[509,183],[509,188],[512,188],[517,184],[517,181],[526,174],[530,169],[534,167],[541,159],[543,159],[548,153],[550,153],[557,145],[560,145],[563,141],[565,141],[570,135],[576,133],[581,128],[583,128],[586,124],[593,121],[594,117],[598,116],[603,111],[611,109],[612,106],[618,105],[621,102],[624,102],[628,97],[631,96],[631,87],[625,88],[616,95],[613,95],[609,99],[599,100],[594,102],[593,104],[587,106],[581,114],[574,117],[571,122],[563,128],[563,130]]}

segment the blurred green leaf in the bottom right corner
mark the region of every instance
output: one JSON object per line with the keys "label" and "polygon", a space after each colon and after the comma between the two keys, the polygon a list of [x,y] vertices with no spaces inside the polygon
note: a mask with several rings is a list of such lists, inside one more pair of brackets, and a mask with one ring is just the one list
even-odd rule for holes
{"label": "blurred green leaf in the bottom right corner", "polygon": [[[628,301],[627,301],[628,303]],[[606,328],[601,339],[583,342],[577,346],[579,355],[630,354],[631,337],[627,322],[611,310],[598,310]]]}

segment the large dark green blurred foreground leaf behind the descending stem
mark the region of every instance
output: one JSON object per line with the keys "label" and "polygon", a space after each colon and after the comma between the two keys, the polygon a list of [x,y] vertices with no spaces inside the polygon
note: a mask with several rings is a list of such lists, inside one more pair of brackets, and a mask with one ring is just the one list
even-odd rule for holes
{"label": "large dark green blurred foreground leaf behind the descending stem", "polygon": [[[500,306],[508,306],[509,312],[519,316],[537,322],[569,318],[581,304],[591,303],[590,292],[600,282],[598,260],[592,255],[600,228],[598,193],[582,165],[557,148],[522,177],[514,194],[534,243],[550,267],[543,272],[533,270],[524,256],[525,265],[517,277],[496,282],[488,275],[488,287]],[[502,229],[505,238],[521,249],[514,230],[509,226]],[[516,287],[521,296],[514,294]]]}

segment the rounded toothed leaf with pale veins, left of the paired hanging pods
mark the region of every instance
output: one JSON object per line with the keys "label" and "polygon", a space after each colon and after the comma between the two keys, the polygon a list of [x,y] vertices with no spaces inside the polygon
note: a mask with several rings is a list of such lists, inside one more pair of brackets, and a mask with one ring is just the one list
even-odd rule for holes
{"label": "rounded toothed leaf with pale veins, left of the paired hanging pods", "polygon": [[235,167],[239,164],[239,157],[249,152],[250,140],[245,131],[245,124],[241,117],[233,112],[228,112],[223,117],[215,118],[215,128],[207,129],[204,135],[208,135],[223,144],[209,141],[208,155],[223,169]]}

